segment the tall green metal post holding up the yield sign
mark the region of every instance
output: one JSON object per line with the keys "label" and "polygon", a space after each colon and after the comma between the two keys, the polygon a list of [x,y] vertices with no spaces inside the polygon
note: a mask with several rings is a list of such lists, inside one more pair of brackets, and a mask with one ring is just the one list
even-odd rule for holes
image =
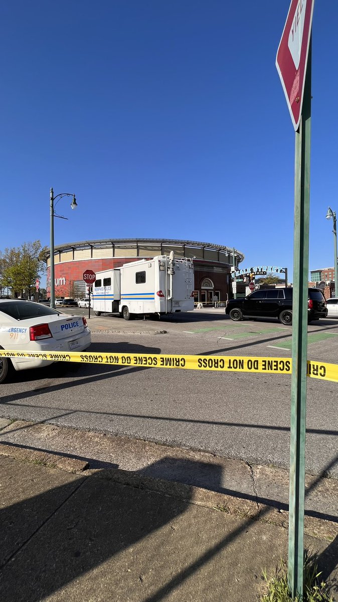
{"label": "tall green metal post holding up the yield sign", "polygon": [[290,420],[289,562],[292,597],[303,596],[306,434],[307,298],[309,270],[311,47],[295,143],[293,317]]}

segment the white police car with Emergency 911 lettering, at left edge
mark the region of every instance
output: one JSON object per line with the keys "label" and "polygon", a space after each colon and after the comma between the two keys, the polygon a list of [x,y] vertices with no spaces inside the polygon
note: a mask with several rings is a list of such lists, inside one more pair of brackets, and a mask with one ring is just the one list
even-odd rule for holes
{"label": "white police car with Emergency 911 lettering, at left edge", "polygon": [[[0,299],[0,348],[29,352],[84,351],[91,344],[87,320],[22,299]],[[0,358],[0,383],[10,367],[39,368],[52,362],[33,358]]]}

